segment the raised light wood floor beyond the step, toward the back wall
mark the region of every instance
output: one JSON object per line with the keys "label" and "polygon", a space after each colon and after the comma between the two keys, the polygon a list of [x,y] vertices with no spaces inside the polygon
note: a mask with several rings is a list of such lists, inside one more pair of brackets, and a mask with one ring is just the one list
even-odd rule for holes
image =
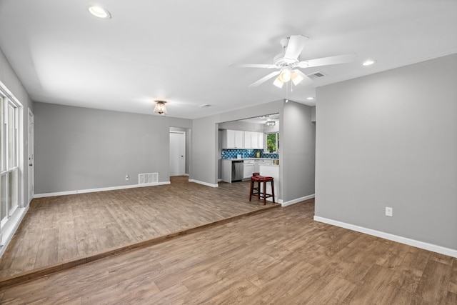
{"label": "raised light wood floor beyond the step, toward the back wall", "polygon": [[144,246],[264,209],[263,201],[248,201],[248,192],[247,181],[211,188],[178,176],[163,186],[33,199],[0,259],[0,287],[11,277],[49,274],[123,246]]}

